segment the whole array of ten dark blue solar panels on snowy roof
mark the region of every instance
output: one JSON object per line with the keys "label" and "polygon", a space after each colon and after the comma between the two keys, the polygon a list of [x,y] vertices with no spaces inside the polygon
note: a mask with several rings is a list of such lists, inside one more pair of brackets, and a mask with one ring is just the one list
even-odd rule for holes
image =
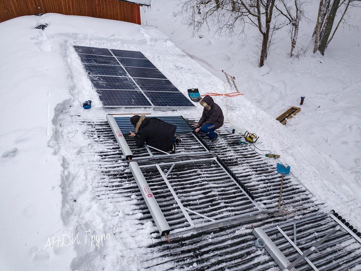
{"label": "whole array of ten dark blue solar panels on snowy roof", "polygon": [[194,106],[138,51],[74,46],[103,107]]}

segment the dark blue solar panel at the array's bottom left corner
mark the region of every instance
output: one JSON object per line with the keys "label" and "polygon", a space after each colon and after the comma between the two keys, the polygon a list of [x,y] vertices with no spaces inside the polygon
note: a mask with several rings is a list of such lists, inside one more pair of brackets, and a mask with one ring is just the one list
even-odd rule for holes
{"label": "dark blue solar panel at the array's bottom left corner", "polygon": [[99,89],[99,98],[103,106],[152,106],[141,91]]}

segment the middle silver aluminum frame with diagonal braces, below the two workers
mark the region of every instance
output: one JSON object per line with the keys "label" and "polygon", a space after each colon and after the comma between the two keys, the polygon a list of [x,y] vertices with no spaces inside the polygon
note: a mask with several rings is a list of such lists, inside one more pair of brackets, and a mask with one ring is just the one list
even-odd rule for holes
{"label": "middle silver aluminum frame with diagonal braces, below the two workers", "polygon": [[[199,162],[212,162],[215,161],[222,169],[223,171],[231,178],[231,180],[237,185],[237,187],[244,193],[244,195],[247,196],[247,198],[255,205],[256,207],[256,211],[252,211],[252,212],[247,212],[244,214],[240,214],[240,215],[236,215],[236,216],[232,216],[232,217],[227,217],[224,219],[211,219],[207,216],[201,215],[200,213],[194,212],[192,210],[190,210],[189,208],[186,208],[182,205],[181,201],[179,200],[177,194],[175,193],[175,191],[173,190],[173,188],[171,187],[167,176],[168,174],[171,172],[171,170],[173,169],[174,165],[176,164],[187,164],[187,163],[199,163]],[[168,170],[168,172],[166,174],[163,173],[163,171],[161,170],[160,166],[164,166],[164,165],[171,165],[170,169]],[[237,223],[241,223],[241,222],[245,222],[245,221],[251,221],[257,218],[260,218],[260,213],[263,211],[263,209],[258,205],[257,202],[255,202],[254,200],[251,199],[251,197],[242,189],[242,187],[236,182],[236,180],[227,172],[227,170],[218,162],[216,157],[212,157],[212,158],[204,158],[204,159],[195,159],[195,160],[184,160],[184,161],[175,161],[175,162],[166,162],[166,163],[157,163],[157,164],[149,164],[149,165],[141,165],[139,166],[140,169],[142,168],[152,168],[155,167],[157,168],[158,172],[160,173],[161,177],[163,178],[163,180],[165,181],[166,185],[168,186],[169,191],[171,192],[171,194],[173,195],[175,201],[177,202],[179,208],[181,209],[181,211],[183,212],[184,216],[186,217],[188,223],[190,224],[189,227],[186,228],[182,228],[182,229],[176,229],[176,230],[170,230],[168,237],[169,238],[179,238],[182,237],[184,235],[190,235],[190,234],[194,234],[194,233],[199,233],[199,232],[204,232],[206,230],[210,230],[210,229],[217,229],[217,228],[221,228],[223,226],[227,226],[227,225],[233,225],[233,224],[237,224]],[[187,211],[195,213],[196,215],[199,215],[201,217],[204,217],[208,220],[210,220],[209,222],[206,223],[202,223],[199,225],[195,225],[190,216],[188,215]]]}

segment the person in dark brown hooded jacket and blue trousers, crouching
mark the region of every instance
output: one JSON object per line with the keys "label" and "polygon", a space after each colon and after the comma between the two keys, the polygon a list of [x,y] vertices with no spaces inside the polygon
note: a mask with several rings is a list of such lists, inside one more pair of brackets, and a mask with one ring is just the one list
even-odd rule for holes
{"label": "person in dark brown hooded jacket and blue trousers, crouching", "polygon": [[194,124],[193,129],[196,132],[203,132],[210,141],[214,142],[218,137],[214,131],[221,127],[224,121],[222,109],[208,95],[200,100],[200,104],[204,107],[202,117],[197,124]]}

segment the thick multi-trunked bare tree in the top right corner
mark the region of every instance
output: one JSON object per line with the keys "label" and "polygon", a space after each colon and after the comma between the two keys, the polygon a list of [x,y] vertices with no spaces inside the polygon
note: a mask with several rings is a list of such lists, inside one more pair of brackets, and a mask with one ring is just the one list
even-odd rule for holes
{"label": "thick multi-trunked bare tree in the top right corner", "polygon": [[[312,35],[314,40],[313,53],[316,53],[318,50],[322,55],[325,54],[325,50],[334,37],[340,23],[344,21],[349,7],[359,7],[357,2],[360,3],[361,0],[320,0],[316,26]],[[341,18],[331,35],[336,14],[342,9]]]}

